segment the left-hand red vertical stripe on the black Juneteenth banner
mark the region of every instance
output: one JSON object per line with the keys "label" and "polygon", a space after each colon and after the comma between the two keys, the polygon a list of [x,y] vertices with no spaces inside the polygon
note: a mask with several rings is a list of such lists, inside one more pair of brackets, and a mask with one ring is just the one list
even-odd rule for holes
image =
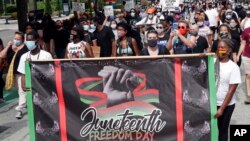
{"label": "left-hand red vertical stripe on the black Juneteenth banner", "polygon": [[65,101],[63,96],[62,89],[62,70],[60,61],[56,60],[55,62],[55,79],[56,79],[56,90],[58,95],[58,104],[59,104],[59,115],[60,115],[60,133],[61,141],[67,141],[67,127],[66,127],[66,109]]}

